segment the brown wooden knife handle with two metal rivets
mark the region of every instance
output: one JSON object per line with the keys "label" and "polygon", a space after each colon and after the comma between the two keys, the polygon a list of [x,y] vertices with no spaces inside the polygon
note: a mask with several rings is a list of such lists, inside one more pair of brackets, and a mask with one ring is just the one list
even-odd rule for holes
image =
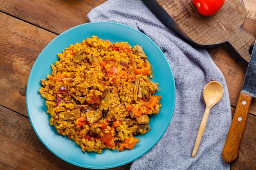
{"label": "brown wooden knife handle with two metal rivets", "polygon": [[225,163],[234,162],[239,157],[240,144],[245,131],[252,97],[252,95],[244,92],[239,95],[236,111],[222,151],[222,159]]}

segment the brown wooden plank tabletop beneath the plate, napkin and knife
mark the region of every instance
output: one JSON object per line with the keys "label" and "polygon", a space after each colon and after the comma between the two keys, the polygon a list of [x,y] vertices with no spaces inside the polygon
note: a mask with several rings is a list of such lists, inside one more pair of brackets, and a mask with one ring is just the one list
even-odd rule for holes
{"label": "brown wooden plank tabletop beneath the plate, napkin and knife", "polygon": [[[0,169],[82,170],[56,157],[38,139],[27,113],[31,67],[58,34],[89,22],[87,14],[106,0],[0,0]],[[244,0],[242,29],[256,38],[256,0]],[[232,114],[246,72],[227,45],[208,49],[225,76]],[[231,170],[256,170],[256,100],[253,99],[240,157]],[[130,164],[111,170],[128,170]]]}

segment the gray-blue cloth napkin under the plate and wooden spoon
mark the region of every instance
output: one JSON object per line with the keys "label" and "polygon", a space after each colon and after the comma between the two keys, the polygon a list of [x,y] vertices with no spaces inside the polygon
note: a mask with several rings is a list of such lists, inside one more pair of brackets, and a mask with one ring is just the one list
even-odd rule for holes
{"label": "gray-blue cloth napkin under the plate and wooden spoon", "polygon": [[[229,93],[208,52],[182,40],[141,0],[108,0],[90,11],[88,19],[125,24],[146,34],[163,51],[175,78],[176,104],[171,122],[158,143],[133,161],[131,170],[229,170],[221,156],[231,123]],[[211,108],[197,155],[192,158],[205,110],[203,89],[212,80],[223,85],[224,95]]]}

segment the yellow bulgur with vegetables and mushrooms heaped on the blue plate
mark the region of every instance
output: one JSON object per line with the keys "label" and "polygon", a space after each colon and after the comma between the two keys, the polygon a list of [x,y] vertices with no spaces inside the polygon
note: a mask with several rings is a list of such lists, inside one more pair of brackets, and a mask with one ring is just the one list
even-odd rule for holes
{"label": "yellow bulgur with vegetables and mushrooms heaped on the blue plate", "polygon": [[39,89],[50,125],[83,152],[134,148],[161,107],[143,48],[92,36],[57,55]]}

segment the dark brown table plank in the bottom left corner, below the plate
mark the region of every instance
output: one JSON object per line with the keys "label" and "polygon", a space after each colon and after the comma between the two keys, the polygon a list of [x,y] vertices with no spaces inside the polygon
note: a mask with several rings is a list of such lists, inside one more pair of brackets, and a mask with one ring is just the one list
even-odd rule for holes
{"label": "dark brown table plank in the bottom left corner, below the plate", "polygon": [[[1,170],[89,170],[67,163],[49,151],[27,117],[2,106],[0,117]],[[124,165],[111,170],[129,168],[130,165]]]}

